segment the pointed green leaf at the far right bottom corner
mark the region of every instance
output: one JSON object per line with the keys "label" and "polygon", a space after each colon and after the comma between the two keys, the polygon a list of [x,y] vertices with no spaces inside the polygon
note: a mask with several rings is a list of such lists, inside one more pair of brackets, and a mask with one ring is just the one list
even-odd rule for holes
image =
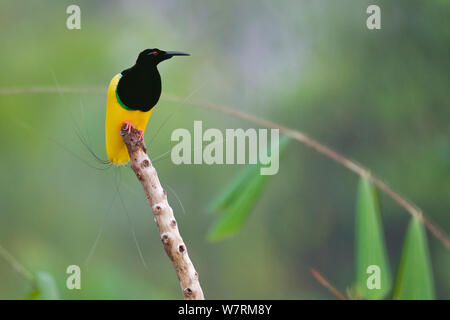
{"label": "pointed green leaf at the far right bottom corner", "polygon": [[434,298],[433,273],[425,229],[418,218],[413,218],[403,245],[393,299],[432,300]]}

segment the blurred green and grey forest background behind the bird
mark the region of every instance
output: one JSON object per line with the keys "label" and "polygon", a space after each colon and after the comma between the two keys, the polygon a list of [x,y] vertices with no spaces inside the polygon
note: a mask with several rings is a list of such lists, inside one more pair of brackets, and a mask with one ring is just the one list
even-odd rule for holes
{"label": "blurred green and grey forest background behind the bird", "polygon": [[[81,30],[66,8],[81,7]],[[381,7],[382,29],[366,28]],[[364,164],[450,231],[450,3],[441,1],[2,1],[1,88],[106,88],[145,48],[163,92],[224,104],[308,133]],[[104,150],[105,93],[0,95],[0,244],[52,274],[64,299],[181,298],[145,196],[127,167],[96,170],[76,132]],[[161,123],[170,115],[157,133]],[[253,124],[162,99],[146,141],[155,158],[176,128]],[[151,141],[151,143],[150,143]],[[296,142],[235,237],[205,240],[211,199],[242,166],[155,163],[210,299],[327,299],[309,272],[345,291],[355,278],[358,177]],[[125,203],[114,198],[115,184]],[[410,216],[381,195],[393,272]],[[112,209],[108,212],[108,207]],[[128,211],[149,269],[137,252]],[[106,218],[105,218],[106,215]],[[85,260],[103,228],[95,253]],[[436,297],[450,297],[450,254],[428,233]],[[82,290],[65,288],[68,265]],[[0,298],[30,284],[0,259]]]}

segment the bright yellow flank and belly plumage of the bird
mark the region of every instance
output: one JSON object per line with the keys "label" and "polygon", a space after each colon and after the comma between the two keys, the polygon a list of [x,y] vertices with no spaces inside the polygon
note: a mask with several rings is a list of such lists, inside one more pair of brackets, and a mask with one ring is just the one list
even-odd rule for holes
{"label": "bright yellow flank and belly plumage of the bird", "polygon": [[136,129],[145,132],[148,119],[153,110],[147,112],[127,110],[120,105],[119,101],[117,101],[116,89],[121,76],[120,73],[115,75],[109,83],[105,121],[106,153],[109,161],[117,165],[127,163],[130,160],[127,147],[120,135],[123,123],[129,121]]}

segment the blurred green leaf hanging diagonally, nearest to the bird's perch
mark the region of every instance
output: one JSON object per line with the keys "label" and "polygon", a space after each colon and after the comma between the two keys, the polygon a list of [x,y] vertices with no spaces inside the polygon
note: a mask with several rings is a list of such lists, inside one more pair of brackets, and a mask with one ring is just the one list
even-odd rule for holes
{"label": "blurred green leaf hanging diagonally, nearest to the bird's perch", "polygon": [[[279,144],[279,156],[284,154],[289,137],[282,136]],[[251,209],[255,206],[265,185],[268,175],[260,174],[261,164],[247,167],[232,183],[213,201],[214,210],[226,211],[211,227],[207,239],[218,241],[236,234],[247,220]]]}

